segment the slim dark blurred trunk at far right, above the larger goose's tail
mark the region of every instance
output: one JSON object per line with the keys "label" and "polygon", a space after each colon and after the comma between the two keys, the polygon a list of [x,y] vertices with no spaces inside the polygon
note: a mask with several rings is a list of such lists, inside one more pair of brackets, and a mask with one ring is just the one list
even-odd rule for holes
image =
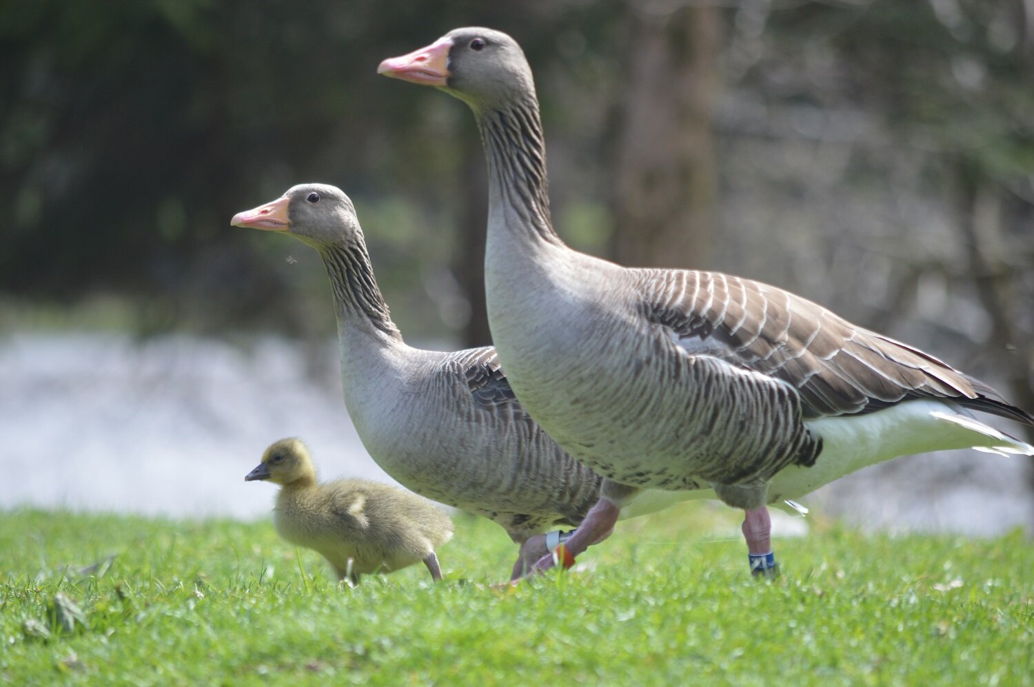
{"label": "slim dark blurred trunk at far right, above the larger goose's tail", "polygon": [[[1030,307],[1017,292],[1018,278],[1002,236],[1002,198],[998,189],[979,170],[965,161],[960,163],[960,199],[963,241],[970,257],[970,275],[984,311],[991,317],[989,347],[1005,374],[1006,400],[1028,412],[1034,412],[1034,337],[1022,331],[1020,309]],[[1002,345],[1005,350],[996,351]],[[1034,442],[1034,431],[1026,430]],[[1028,468],[1034,493],[1034,460]],[[1034,524],[1032,524],[1034,525]]]}

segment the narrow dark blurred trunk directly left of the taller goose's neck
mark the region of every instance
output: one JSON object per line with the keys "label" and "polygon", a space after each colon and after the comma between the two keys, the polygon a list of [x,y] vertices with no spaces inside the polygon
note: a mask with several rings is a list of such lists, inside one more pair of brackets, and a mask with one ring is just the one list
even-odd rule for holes
{"label": "narrow dark blurred trunk directly left of the taller goose's neck", "polygon": [[453,274],[470,303],[470,318],[463,327],[463,345],[487,346],[492,343],[485,309],[485,239],[488,222],[488,188],[485,180],[485,152],[474,127],[464,127],[462,136],[463,169],[460,189],[459,251]]}

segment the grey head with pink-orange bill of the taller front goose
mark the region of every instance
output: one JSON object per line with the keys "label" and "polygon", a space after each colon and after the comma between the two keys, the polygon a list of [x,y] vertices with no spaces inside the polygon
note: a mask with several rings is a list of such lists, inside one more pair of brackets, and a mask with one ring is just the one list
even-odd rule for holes
{"label": "grey head with pink-orange bill of the taller front goose", "polygon": [[388,58],[377,73],[434,86],[476,111],[535,95],[524,51],[509,35],[483,27],[453,29],[426,48]]}

